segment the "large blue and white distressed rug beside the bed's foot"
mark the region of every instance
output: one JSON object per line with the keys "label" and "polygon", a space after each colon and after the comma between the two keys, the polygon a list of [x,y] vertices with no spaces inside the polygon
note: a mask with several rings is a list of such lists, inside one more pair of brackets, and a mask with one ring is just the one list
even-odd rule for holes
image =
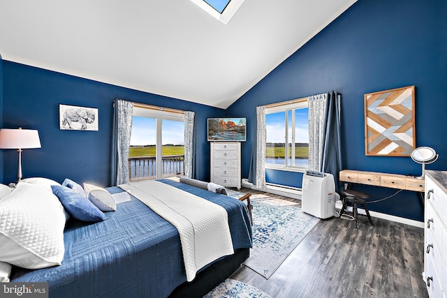
{"label": "large blue and white distressed rug beside the bed's foot", "polygon": [[286,200],[266,195],[252,195],[250,200],[253,205],[253,248],[244,265],[270,278],[320,219]]}

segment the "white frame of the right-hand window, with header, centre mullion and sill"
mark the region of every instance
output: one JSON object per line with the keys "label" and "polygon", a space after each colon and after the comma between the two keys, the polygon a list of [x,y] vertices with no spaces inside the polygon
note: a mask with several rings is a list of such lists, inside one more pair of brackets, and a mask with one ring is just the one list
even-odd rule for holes
{"label": "white frame of the right-hand window, with header, centre mullion and sill", "polygon": [[[285,114],[285,122],[284,122],[284,165],[278,165],[278,164],[274,164],[274,163],[266,163],[264,161],[264,166],[265,169],[270,169],[270,170],[283,170],[283,171],[288,171],[288,172],[306,172],[308,170],[308,167],[300,167],[300,166],[296,166],[296,165],[287,165],[287,161],[289,158],[289,154],[288,154],[288,147],[287,144],[288,142],[288,124],[290,121],[292,121],[292,131],[291,131],[291,136],[292,136],[292,144],[295,144],[295,112],[291,112],[292,114],[292,119],[289,119],[289,115],[288,112],[289,111],[295,111],[295,110],[299,110],[299,109],[304,109],[304,108],[309,108],[309,101],[307,100],[307,98],[300,98],[298,100],[291,100],[288,103],[279,103],[277,105],[272,105],[272,106],[266,106],[265,107],[265,115],[267,114],[274,114],[274,113],[279,113],[279,112],[284,112]],[[265,140],[265,142],[267,142],[267,140]],[[295,157],[295,150],[291,150],[292,154],[291,154],[291,158]]]}

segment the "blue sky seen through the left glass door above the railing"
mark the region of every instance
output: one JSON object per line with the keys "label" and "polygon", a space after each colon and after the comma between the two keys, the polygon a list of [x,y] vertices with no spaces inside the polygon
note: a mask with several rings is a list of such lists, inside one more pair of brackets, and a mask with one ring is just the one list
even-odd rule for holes
{"label": "blue sky seen through the left glass door above the railing", "polygon": [[[156,143],[155,119],[133,117],[131,146],[154,145]],[[184,144],[184,122],[163,120],[163,144]]]}

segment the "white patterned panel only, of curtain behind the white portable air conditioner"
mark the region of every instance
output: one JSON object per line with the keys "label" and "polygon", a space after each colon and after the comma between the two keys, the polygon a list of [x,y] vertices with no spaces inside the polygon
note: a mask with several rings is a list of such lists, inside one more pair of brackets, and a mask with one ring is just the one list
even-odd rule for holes
{"label": "white patterned panel only, of curtain behind the white portable air conditioner", "polygon": [[323,146],[328,94],[309,96],[309,170],[323,169]]}

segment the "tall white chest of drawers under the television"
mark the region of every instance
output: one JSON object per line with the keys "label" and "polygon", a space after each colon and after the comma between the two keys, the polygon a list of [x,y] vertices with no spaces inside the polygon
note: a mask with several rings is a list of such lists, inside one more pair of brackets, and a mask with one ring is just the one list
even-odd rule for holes
{"label": "tall white chest of drawers under the television", "polygon": [[211,181],[240,189],[240,142],[211,143]]}

